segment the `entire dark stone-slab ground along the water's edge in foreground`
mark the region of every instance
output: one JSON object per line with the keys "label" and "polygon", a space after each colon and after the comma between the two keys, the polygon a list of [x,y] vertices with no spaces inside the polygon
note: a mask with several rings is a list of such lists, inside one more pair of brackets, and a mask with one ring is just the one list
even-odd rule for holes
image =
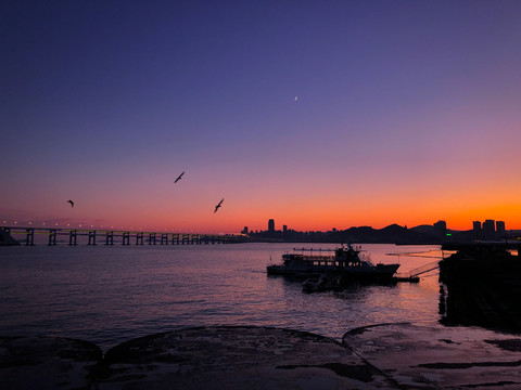
{"label": "entire dark stone-slab ground along the water's edge in foreground", "polygon": [[521,389],[521,337],[380,324],[343,343],[269,327],[199,327],[98,347],[0,338],[2,389]]}

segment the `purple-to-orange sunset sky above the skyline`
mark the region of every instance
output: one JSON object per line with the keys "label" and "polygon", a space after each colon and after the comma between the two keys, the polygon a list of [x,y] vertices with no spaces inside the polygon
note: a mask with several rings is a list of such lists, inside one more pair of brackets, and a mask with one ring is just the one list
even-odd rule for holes
{"label": "purple-to-orange sunset sky above the skyline", "polygon": [[4,1],[0,223],[521,229],[520,18],[517,0]]}

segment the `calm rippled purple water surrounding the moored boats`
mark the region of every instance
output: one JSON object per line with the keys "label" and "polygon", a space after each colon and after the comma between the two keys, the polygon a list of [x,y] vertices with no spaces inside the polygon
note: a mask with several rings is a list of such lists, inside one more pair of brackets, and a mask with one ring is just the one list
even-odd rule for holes
{"label": "calm rippled purple water surrounding the moored boats", "polygon": [[[437,322],[436,272],[419,284],[303,294],[300,282],[266,275],[295,246],[303,244],[0,248],[0,335],[73,337],[106,350],[185,326],[282,326],[341,340],[357,326]],[[401,271],[441,256],[437,246],[363,248]]]}

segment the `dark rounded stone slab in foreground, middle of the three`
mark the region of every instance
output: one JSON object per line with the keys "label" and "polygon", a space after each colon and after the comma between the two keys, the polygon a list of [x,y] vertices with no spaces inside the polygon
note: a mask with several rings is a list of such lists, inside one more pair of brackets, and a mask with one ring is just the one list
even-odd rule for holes
{"label": "dark rounded stone slab in foreground, middle of the three", "polygon": [[394,389],[341,343],[269,327],[200,327],[124,342],[98,389]]}

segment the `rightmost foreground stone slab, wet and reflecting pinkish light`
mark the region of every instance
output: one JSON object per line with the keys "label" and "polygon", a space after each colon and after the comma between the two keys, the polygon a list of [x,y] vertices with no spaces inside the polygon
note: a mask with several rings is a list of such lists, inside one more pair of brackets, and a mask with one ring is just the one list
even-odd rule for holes
{"label": "rightmost foreground stone slab, wet and reflecting pinkish light", "polygon": [[521,336],[472,327],[382,324],[343,343],[403,389],[521,389]]}

